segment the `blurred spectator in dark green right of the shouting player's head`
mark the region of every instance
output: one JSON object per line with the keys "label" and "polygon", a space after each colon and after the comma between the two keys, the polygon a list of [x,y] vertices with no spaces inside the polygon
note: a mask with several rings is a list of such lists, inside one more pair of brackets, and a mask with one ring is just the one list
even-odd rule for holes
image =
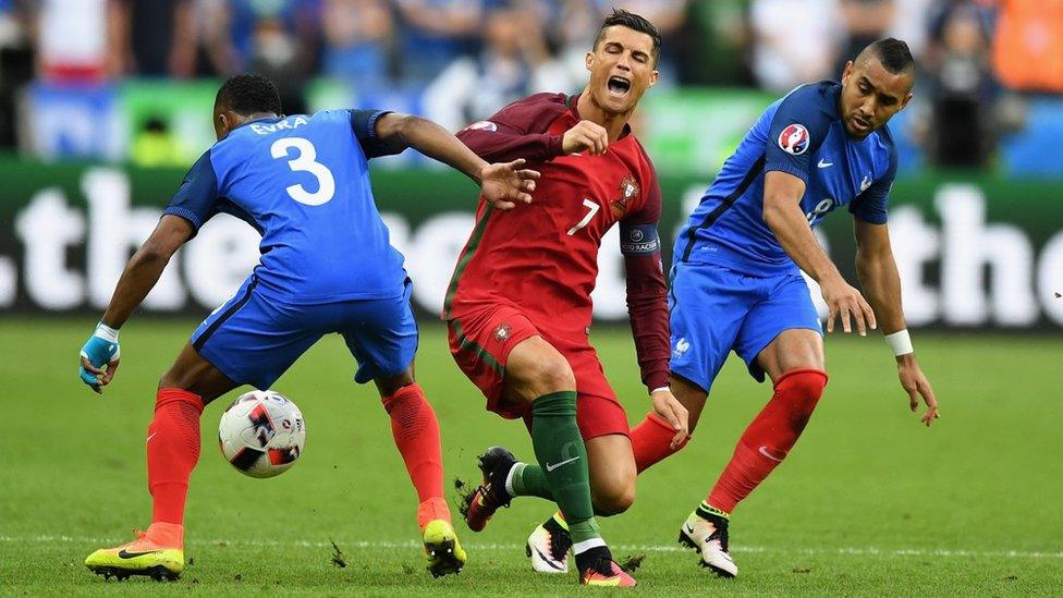
{"label": "blurred spectator in dark green right of the shouting player's head", "polygon": [[750,0],[691,2],[684,25],[665,41],[677,53],[683,85],[752,86]]}

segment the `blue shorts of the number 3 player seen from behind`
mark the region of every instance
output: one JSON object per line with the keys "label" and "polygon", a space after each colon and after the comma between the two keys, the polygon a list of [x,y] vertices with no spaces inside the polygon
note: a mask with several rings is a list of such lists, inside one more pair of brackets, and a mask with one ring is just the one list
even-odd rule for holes
{"label": "blue shorts of the number 3 player seen from behind", "polygon": [[203,358],[239,385],[266,390],[325,334],[338,332],[358,363],[354,380],[398,376],[417,352],[412,284],[387,300],[293,305],[264,297],[251,276],[192,334]]}

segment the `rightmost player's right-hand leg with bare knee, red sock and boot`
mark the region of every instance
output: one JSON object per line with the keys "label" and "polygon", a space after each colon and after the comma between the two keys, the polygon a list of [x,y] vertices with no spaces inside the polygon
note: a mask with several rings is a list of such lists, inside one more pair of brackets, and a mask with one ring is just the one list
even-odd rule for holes
{"label": "rightmost player's right-hand leg with bare knee, red sock and boot", "polygon": [[774,383],[774,394],[680,533],[681,541],[700,551],[702,565],[726,577],[738,573],[728,552],[731,512],[786,457],[827,386],[823,339],[814,330],[783,331],[760,352],[757,364]]}

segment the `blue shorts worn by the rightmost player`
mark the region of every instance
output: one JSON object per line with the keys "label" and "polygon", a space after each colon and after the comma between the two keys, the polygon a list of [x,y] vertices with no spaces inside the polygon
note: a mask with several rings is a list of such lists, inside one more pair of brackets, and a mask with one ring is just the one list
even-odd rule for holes
{"label": "blue shorts worn by the rightmost player", "polygon": [[784,330],[823,333],[819,314],[799,273],[756,277],[713,264],[672,266],[672,374],[706,392],[734,350],[749,375],[765,380],[757,355]]}

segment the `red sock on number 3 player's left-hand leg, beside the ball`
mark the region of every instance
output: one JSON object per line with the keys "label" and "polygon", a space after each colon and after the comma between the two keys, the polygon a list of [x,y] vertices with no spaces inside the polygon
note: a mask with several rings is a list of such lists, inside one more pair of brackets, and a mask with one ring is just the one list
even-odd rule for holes
{"label": "red sock on number 3 player's left-hand leg, beside the ball", "polygon": [[188,477],[199,461],[203,400],[178,388],[161,388],[148,426],[148,491],[152,523],[184,523]]}

